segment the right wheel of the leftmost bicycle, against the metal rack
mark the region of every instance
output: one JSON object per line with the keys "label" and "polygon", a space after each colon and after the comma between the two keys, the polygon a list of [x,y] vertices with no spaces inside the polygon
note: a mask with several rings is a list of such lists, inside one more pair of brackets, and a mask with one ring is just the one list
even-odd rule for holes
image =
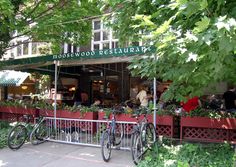
{"label": "right wheel of the leftmost bicycle, against the metal rack", "polygon": [[38,127],[35,130],[35,138],[40,141],[48,138],[48,127],[46,122],[40,122],[38,124]]}

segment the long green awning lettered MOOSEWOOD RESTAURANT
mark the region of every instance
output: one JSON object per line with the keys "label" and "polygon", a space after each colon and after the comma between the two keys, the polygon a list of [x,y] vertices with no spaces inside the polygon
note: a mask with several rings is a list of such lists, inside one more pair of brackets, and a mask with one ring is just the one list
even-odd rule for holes
{"label": "long green awning lettered MOOSEWOOD RESTAURANT", "polygon": [[[122,62],[124,59],[130,56],[143,55],[148,53],[154,53],[154,46],[130,46],[127,48],[113,48],[96,51],[82,51],[77,53],[65,53],[57,55],[44,55],[37,57],[29,57],[22,59],[13,59],[0,62],[0,67],[5,70],[16,70],[42,67],[54,64],[54,61],[60,61],[63,65],[70,65],[70,62],[77,62],[79,64],[90,64],[92,62],[103,59],[103,63],[110,62]],[[90,60],[90,61],[89,61]]]}

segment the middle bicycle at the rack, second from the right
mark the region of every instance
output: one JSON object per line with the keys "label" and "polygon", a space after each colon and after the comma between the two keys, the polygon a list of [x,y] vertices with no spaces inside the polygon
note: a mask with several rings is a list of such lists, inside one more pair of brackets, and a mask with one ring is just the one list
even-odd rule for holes
{"label": "middle bicycle at the rack, second from the right", "polygon": [[124,137],[124,127],[122,124],[116,123],[115,112],[116,110],[113,109],[111,121],[107,118],[107,127],[102,134],[101,152],[105,162],[108,162],[111,158],[112,146],[119,145]]}

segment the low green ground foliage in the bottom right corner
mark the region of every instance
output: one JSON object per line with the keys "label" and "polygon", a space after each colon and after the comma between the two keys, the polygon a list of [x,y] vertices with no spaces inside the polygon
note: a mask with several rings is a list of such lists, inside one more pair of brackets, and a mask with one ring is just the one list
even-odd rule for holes
{"label": "low green ground foliage in the bottom right corner", "polygon": [[148,152],[139,167],[233,167],[236,154],[229,144],[183,143],[164,141]]}

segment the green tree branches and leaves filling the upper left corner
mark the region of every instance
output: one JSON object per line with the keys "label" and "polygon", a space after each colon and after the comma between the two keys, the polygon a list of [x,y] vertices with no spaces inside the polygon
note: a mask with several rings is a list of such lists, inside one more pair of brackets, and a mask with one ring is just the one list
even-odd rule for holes
{"label": "green tree branches and leaves filling the upper left corner", "polygon": [[21,36],[49,42],[54,52],[59,52],[63,42],[87,43],[91,38],[90,19],[99,14],[95,0],[1,0],[0,57],[8,49],[29,42],[10,42]]}

